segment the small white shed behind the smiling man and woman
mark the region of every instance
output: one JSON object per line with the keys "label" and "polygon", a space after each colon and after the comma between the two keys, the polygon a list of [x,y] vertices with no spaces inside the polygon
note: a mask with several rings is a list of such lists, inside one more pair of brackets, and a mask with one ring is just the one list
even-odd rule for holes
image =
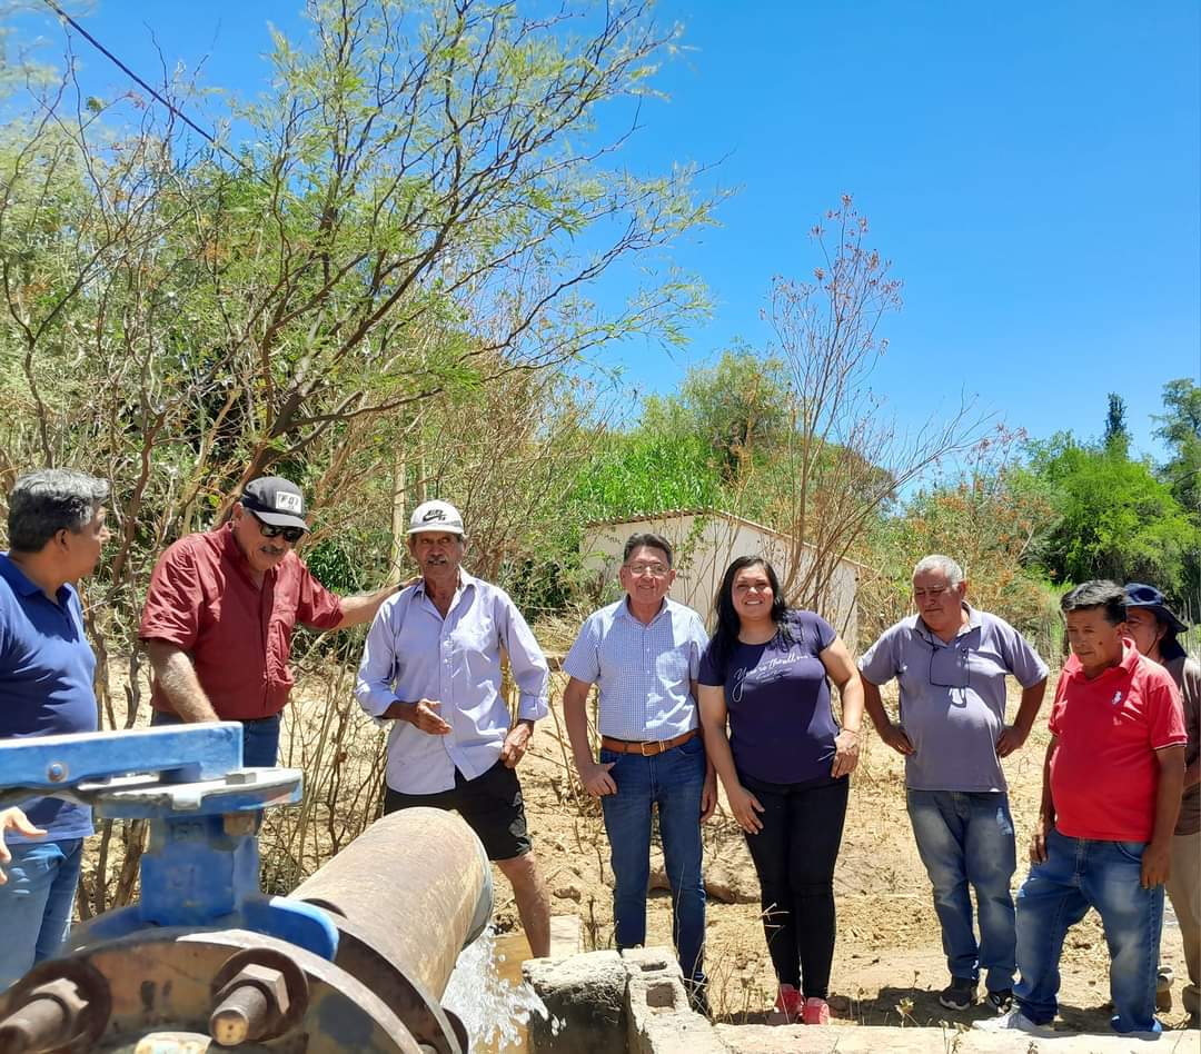
{"label": "small white shed behind the smiling man and woman", "polygon": [[[772,563],[783,582],[788,580],[795,550],[787,534],[741,516],[716,509],[673,509],[588,523],[580,543],[585,568],[602,582],[615,581],[626,539],[641,532],[662,534],[671,543],[679,571],[671,598],[699,611],[709,627],[712,627],[713,619],[713,597],[730,561],[740,556],[763,556]],[[806,549],[801,553],[803,561]],[[856,594],[862,564],[854,561],[841,561],[817,605],[818,615],[838,630],[852,651],[855,651],[859,629]],[[803,571],[803,567],[799,569],[799,577]]]}

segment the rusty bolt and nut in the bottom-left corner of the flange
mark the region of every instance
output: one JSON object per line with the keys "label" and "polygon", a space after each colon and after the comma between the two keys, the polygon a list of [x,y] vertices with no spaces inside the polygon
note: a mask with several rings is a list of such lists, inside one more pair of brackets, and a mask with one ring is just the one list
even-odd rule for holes
{"label": "rusty bolt and nut in the bottom-left corner of the flange", "polygon": [[38,963],[0,994],[0,1052],[84,1054],[108,1024],[104,976],[79,957]]}

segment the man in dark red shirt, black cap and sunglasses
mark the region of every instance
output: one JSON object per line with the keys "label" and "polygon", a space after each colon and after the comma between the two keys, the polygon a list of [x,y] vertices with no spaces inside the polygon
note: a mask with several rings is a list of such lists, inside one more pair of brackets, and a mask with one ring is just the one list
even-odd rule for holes
{"label": "man in dark red shirt, black cap and sunglasses", "polygon": [[243,760],[275,765],[293,677],[292,630],[370,622],[394,587],[339,598],[293,551],[307,531],[300,489],[246,484],[229,521],[180,538],[159,558],[138,636],[154,667],[151,724],[243,723]]}

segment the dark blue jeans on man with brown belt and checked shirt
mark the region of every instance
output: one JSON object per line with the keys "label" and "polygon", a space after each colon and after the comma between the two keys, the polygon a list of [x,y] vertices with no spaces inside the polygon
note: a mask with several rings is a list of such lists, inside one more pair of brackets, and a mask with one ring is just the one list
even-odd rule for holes
{"label": "dark blue jeans on man with brown belt and checked shirt", "polygon": [[613,921],[617,948],[646,944],[651,878],[651,807],[659,809],[663,863],[671,886],[671,939],[686,981],[704,983],[705,885],[700,876],[700,797],[705,747],[700,736],[655,757],[600,750],[617,794],[600,798],[611,846]]}

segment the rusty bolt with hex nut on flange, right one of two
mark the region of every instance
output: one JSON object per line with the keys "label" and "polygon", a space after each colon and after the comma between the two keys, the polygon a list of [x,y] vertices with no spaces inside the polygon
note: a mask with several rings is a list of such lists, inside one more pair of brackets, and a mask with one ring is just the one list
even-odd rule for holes
{"label": "rusty bolt with hex nut on flange, right one of two", "polygon": [[[209,1019],[210,1034],[227,1047],[245,1040],[282,1036],[309,1010],[309,980],[295,960],[279,948],[257,947],[234,952],[217,970],[209,987],[214,1007]],[[255,996],[255,993],[258,995]],[[257,1014],[251,1008],[257,1008]],[[233,1042],[225,1042],[213,1031],[222,1010],[227,1012],[226,1020],[233,1019],[231,1023],[245,1016],[250,1025],[251,1017],[258,1017],[258,1028],[251,1026],[245,1035],[237,1035],[239,1029],[234,1026],[231,1029]]]}

